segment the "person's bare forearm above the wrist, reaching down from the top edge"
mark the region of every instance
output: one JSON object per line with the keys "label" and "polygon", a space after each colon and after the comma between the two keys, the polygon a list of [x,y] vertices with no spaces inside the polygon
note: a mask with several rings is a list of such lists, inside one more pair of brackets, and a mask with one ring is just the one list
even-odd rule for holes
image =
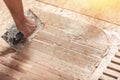
{"label": "person's bare forearm above the wrist, reaching down from the top edge", "polygon": [[20,24],[25,16],[22,0],[4,0],[16,24]]}

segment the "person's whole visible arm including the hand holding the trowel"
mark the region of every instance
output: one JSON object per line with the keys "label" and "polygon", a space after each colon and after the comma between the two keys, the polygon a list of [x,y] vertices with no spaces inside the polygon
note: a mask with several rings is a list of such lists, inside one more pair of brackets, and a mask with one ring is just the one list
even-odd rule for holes
{"label": "person's whole visible arm including the hand holding the trowel", "polygon": [[24,37],[29,37],[35,30],[35,23],[24,15],[22,0],[4,0],[7,5],[13,20]]}

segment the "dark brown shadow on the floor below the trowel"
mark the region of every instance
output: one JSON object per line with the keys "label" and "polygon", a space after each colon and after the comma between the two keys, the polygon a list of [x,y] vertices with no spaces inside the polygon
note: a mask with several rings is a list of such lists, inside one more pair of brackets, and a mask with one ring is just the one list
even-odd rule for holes
{"label": "dark brown shadow on the floor below the trowel", "polygon": [[23,54],[23,52],[16,52],[10,47],[4,47],[3,49],[0,51],[0,65],[3,66],[3,69],[0,69],[2,70],[0,71],[0,80],[22,80],[25,76],[23,74],[25,70],[21,66],[29,60],[29,56]]}

